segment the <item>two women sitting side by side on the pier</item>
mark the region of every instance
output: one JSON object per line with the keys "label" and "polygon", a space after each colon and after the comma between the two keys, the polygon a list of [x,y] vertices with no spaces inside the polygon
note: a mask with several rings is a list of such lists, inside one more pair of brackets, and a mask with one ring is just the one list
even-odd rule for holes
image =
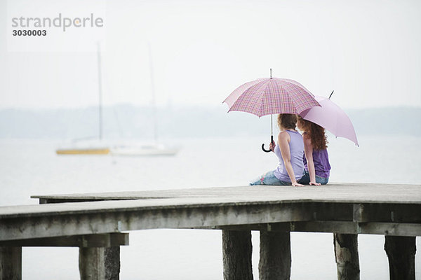
{"label": "two women sitting side by side on the pier", "polygon": [[250,185],[320,186],[328,183],[330,165],[323,127],[294,114],[279,114],[278,126],[281,130],[278,145],[271,143],[270,149],[279,158],[279,165]]}

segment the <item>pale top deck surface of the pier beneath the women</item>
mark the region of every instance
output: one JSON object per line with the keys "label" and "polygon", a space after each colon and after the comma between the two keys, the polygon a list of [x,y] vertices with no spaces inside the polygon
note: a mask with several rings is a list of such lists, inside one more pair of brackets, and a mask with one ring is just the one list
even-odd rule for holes
{"label": "pale top deck surface of the pier beneath the women", "polygon": [[315,200],[319,202],[421,202],[420,185],[329,183],[324,186],[238,186],[220,188],[186,188],[180,190],[143,190],[118,193],[79,193],[61,195],[32,195],[42,200],[150,200],[186,197],[238,197],[252,199]]}

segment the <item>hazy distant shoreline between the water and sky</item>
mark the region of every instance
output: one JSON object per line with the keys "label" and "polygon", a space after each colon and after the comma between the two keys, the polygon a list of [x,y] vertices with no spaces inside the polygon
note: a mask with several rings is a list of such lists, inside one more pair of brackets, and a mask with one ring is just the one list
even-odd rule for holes
{"label": "hazy distant shoreline between the water and sky", "polygon": [[[345,110],[359,135],[421,136],[421,108]],[[153,139],[152,106],[127,104],[103,109],[105,137]],[[270,133],[269,117],[230,112],[220,106],[166,106],[157,109],[163,138],[230,137]],[[98,108],[0,109],[0,139],[76,139],[98,134]]]}

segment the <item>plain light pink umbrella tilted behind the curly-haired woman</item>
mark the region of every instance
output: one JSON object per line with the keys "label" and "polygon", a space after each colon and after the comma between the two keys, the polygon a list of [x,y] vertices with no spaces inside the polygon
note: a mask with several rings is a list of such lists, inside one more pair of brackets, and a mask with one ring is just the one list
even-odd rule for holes
{"label": "plain light pink umbrella tilted behind the curly-haired woman", "polygon": [[[332,96],[333,92],[330,94]],[[349,120],[347,114],[340,109],[338,105],[332,102],[329,98],[316,96],[316,100],[321,107],[312,107],[306,111],[302,111],[300,116],[309,120],[326,130],[332,132],[335,137],[344,137],[353,141],[358,146],[358,140],[354,126]]]}

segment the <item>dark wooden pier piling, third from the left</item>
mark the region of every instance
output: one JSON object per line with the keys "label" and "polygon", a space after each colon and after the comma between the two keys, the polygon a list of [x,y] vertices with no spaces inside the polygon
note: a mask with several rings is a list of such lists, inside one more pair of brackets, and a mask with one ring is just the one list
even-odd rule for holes
{"label": "dark wooden pier piling, third from the left", "polygon": [[250,230],[222,230],[225,280],[253,280]]}

